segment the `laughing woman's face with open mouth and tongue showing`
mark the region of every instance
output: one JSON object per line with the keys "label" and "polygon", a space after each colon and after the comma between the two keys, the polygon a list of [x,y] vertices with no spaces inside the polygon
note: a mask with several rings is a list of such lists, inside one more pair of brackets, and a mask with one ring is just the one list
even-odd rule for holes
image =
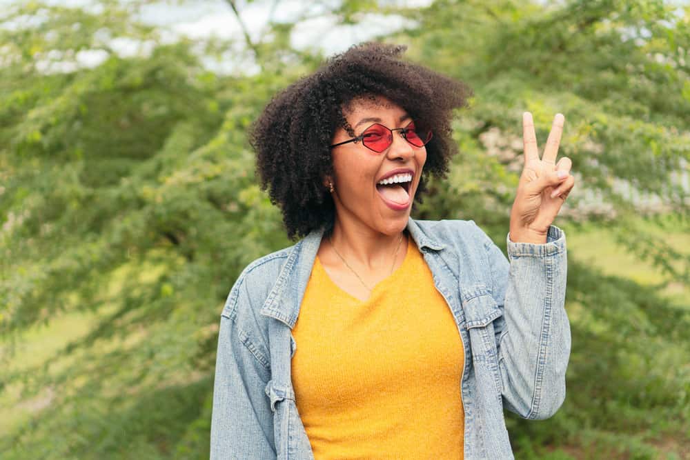
{"label": "laughing woman's face with open mouth and tongue showing", "polygon": [[[375,101],[356,99],[344,110],[344,116],[355,136],[374,123],[393,130],[412,121],[405,110],[384,97]],[[388,235],[404,230],[426,162],[426,148],[413,146],[400,133],[394,131],[393,143],[380,153],[369,150],[362,142],[331,150],[337,221],[367,226]],[[351,138],[343,128],[337,128],[333,143]],[[384,185],[383,179],[397,183]]]}

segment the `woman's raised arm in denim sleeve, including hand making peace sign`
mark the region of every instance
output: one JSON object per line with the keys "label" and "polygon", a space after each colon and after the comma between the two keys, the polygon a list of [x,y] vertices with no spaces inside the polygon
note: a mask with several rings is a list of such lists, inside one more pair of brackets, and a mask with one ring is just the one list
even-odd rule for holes
{"label": "woman's raised arm in denim sleeve, including hand making peace sign", "polygon": [[493,296],[503,310],[495,324],[503,399],[526,419],[551,417],[565,398],[571,345],[565,235],[551,225],[575,184],[570,159],[556,162],[563,123],[556,114],[540,158],[532,114],[522,114],[524,168],[506,238],[510,263],[487,243]]}

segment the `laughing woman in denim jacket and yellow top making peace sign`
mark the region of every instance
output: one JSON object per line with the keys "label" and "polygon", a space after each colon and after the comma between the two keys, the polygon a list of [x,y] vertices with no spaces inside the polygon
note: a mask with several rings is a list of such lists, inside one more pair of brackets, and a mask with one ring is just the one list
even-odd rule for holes
{"label": "laughing woman in denim jacket and yellow top making peace sign", "polygon": [[351,48],[253,128],[262,186],[304,239],[230,291],[214,459],[513,458],[503,408],[544,419],[564,400],[563,117],[540,159],[524,114],[509,262],[473,221],[410,218],[448,168],[467,91],[403,51]]}

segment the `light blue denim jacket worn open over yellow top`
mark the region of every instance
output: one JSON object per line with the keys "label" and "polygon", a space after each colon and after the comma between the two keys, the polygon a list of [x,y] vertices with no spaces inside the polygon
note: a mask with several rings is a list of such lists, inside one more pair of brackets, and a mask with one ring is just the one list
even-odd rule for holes
{"label": "light blue denim jacket worn open over yellow top", "polygon": [[[504,408],[546,419],[565,397],[564,232],[551,226],[544,244],[507,237],[509,262],[473,221],[409,219],[407,228],[465,350],[464,458],[512,459]],[[314,458],[290,379],[291,330],[322,236],[315,230],[257,259],[230,291],[220,321],[211,459]]]}

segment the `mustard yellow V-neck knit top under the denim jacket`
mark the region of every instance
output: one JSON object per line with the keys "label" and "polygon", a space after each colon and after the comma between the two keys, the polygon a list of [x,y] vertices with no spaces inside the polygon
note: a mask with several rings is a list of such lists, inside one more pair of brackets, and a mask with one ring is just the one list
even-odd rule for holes
{"label": "mustard yellow V-neck knit top under the denim jacket", "polygon": [[293,337],[295,402],[315,459],[462,459],[460,332],[411,239],[366,301],[317,257]]}

